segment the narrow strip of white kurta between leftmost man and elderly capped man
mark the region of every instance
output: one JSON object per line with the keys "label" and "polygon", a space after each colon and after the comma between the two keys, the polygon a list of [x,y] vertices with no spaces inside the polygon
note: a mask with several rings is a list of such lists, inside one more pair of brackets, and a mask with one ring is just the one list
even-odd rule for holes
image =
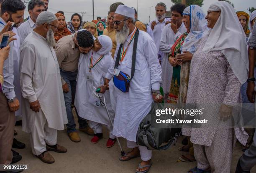
{"label": "narrow strip of white kurta between leftmost man and elderly capped man", "polygon": [[16,98],[20,102],[20,108],[15,112],[15,116],[21,116],[22,114],[22,103],[21,103],[21,90],[20,90],[20,37],[18,35],[17,28],[13,28],[13,33],[15,33],[15,38],[17,40],[13,41],[14,49],[13,49],[13,85],[15,86],[14,91]]}

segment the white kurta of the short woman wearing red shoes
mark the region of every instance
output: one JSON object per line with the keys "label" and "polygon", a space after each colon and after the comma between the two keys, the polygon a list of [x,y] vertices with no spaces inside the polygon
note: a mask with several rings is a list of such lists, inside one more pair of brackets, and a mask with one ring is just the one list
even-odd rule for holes
{"label": "white kurta of the short woman wearing red shoes", "polygon": [[[95,51],[91,50],[86,55],[82,53],[80,55],[74,105],[77,108],[77,112],[80,117],[111,126],[108,114],[105,108],[100,105],[100,99],[95,91],[99,86],[104,85],[104,78],[108,72],[108,68],[110,65],[112,65],[113,58],[110,53],[105,55],[102,60],[91,69],[90,72],[89,66],[92,53],[93,64],[95,64],[95,61],[100,58],[100,55]],[[88,80],[88,76],[92,76],[93,80]],[[100,93],[99,95],[103,102],[103,95]],[[107,90],[104,95],[110,116],[112,120],[114,120],[115,112],[110,104],[109,90]]]}

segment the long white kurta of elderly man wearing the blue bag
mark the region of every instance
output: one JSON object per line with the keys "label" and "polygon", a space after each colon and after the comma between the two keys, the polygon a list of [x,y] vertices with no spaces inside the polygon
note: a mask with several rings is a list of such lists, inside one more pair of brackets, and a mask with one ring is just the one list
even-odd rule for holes
{"label": "long white kurta of elderly man wearing the blue bag", "polygon": [[[128,45],[131,35],[126,39],[124,46]],[[119,65],[119,70],[131,76],[133,42],[127,49],[125,58]],[[114,62],[108,70],[106,78],[113,77],[115,59],[120,44],[115,52]],[[151,89],[159,90],[161,84],[161,66],[157,58],[157,48],[154,40],[144,31],[139,31],[135,74],[131,80],[128,93],[115,88],[117,105],[113,135],[136,141],[136,133],[141,120],[149,113],[152,103]]]}

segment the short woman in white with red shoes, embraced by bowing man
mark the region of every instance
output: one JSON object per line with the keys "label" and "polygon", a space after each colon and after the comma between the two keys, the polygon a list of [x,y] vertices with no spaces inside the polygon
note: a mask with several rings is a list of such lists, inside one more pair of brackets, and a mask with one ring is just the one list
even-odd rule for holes
{"label": "short woman in white with red shoes, embraced by bowing man", "polygon": [[[108,126],[110,135],[107,147],[114,145],[115,136],[112,134],[113,127],[103,106],[103,95],[96,93],[96,90],[104,84],[105,75],[113,62],[111,49],[111,39],[108,36],[100,35],[94,41],[93,48],[89,53],[81,53],[75,98],[75,106],[79,116],[89,120],[89,125],[94,130],[95,136],[91,140],[92,143],[97,143],[102,138],[101,124]],[[110,116],[114,121],[114,111],[110,104],[110,92],[106,91],[104,95]]]}

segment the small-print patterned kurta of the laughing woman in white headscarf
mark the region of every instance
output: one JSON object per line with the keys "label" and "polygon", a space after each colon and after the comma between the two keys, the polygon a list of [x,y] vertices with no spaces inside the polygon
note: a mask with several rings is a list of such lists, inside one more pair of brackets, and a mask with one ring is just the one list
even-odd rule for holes
{"label": "small-print patterned kurta of the laughing woman in white headscarf", "polygon": [[[187,103],[200,104],[226,104],[233,105],[240,102],[240,88],[236,75],[233,73],[228,60],[221,51],[203,53],[202,49],[207,41],[206,35],[200,41],[197,51],[194,54],[189,75],[187,91]],[[215,132],[219,129],[219,108],[212,106],[207,108],[207,118],[210,118],[216,125],[203,128],[183,128],[183,135],[191,136],[191,142],[198,145],[211,146]],[[228,128],[228,127],[225,127]],[[235,128],[236,138],[246,144],[248,135],[241,128]],[[222,138],[222,136],[218,136]]]}

